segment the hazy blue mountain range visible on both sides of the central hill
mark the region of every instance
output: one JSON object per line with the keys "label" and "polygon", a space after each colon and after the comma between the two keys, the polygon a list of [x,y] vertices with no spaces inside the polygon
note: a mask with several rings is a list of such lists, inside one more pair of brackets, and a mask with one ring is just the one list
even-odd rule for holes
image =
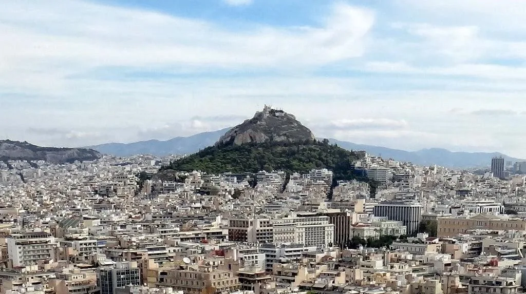
{"label": "hazy blue mountain range visible on both sides of the central hill", "polygon": [[[157,156],[191,154],[213,145],[229,130],[233,129],[226,128],[213,132],[198,133],[189,137],[176,137],[167,141],[148,140],[127,144],[107,143],[89,146],[87,148],[116,156],[131,156],[136,154],[151,154]],[[512,158],[499,152],[451,152],[440,148],[405,151],[381,146],[356,144],[337,139],[329,139],[329,141],[347,150],[364,150],[371,155],[381,156],[385,159],[412,162],[418,165],[437,164],[439,166],[457,169],[488,167],[494,156],[502,156],[506,161],[522,161],[521,159]]]}

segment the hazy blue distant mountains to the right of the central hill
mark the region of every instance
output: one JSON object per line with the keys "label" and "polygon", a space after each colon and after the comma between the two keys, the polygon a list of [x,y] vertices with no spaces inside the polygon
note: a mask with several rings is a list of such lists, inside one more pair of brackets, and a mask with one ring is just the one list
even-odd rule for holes
{"label": "hazy blue distant mountains to the right of the central hill", "polygon": [[494,156],[502,156],[506,161],[522,161],[499,152],[451,152],[440,148],[404,151],[380,146],[355,144],[336,139],[329,139],[329,141],[347,150],[364,150],[371,155],[381,156],[384,159],[392,158],[397,161],[412,162],[418,165],[437,164],[458,169],[487,167],[491,164],[491,159]]}

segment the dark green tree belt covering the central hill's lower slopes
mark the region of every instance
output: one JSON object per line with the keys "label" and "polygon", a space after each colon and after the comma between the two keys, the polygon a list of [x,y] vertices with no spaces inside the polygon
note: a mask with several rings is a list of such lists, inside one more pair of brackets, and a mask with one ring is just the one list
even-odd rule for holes
{"label": "dark green tree belt covering the central hill's lower slopes", "polygon": [[329,144],[328,140],[302,143],[267,142],[243,145],[216,144],[183,159],[170,162],[163,170],[203,171],[219,174],[257,173],[259,171],[285,171],[307,173],[312,169],[333,172],[333,186],[340,180],[368,182],[371,193],[376,194],[378,183],[354,173],[355,152]]}

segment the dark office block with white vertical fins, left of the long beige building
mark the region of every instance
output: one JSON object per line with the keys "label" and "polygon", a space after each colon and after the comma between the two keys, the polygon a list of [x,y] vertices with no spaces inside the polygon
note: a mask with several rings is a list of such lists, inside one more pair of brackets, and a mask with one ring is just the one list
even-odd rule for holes
{"label": "dark office block with white vertical fins, left of the long beige building", "polygon": [[407,226],[408,235],[418,233],[421,213],[420,203],[414,202],[383,201],[375,204],[375,208],[373,208],[375,216],[385,216],[389,220],[402,222],[404,226]]}

